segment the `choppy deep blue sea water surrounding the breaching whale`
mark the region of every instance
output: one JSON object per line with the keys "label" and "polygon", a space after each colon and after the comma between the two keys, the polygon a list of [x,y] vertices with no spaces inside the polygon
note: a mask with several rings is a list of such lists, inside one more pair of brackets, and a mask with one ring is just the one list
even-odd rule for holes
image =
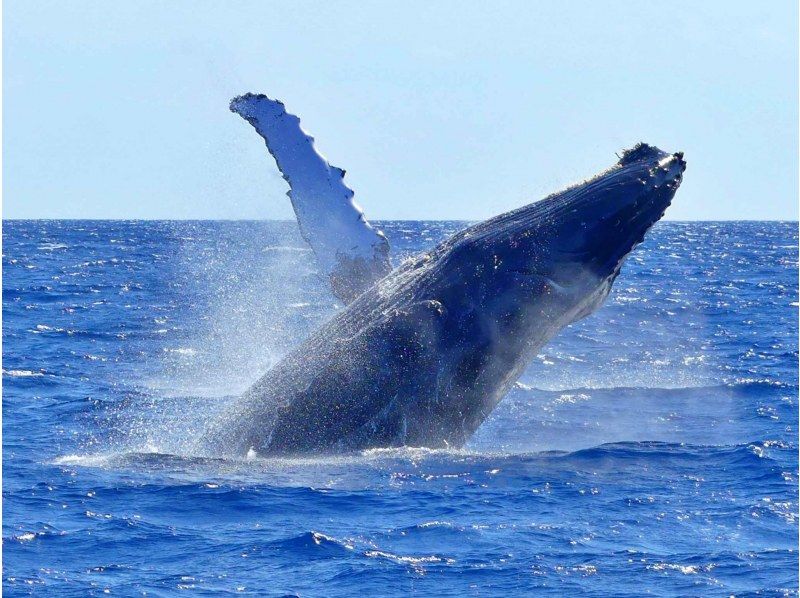
{"label": "choppy deep blue sea water surrounding the breaching whale", "polygon": [[[384,223],[402,258],[457,222]],[[198,458],[337,309],[292,223],[3,224],[6,595],[795,595],[796,223],[659,223],[463,450]]]}

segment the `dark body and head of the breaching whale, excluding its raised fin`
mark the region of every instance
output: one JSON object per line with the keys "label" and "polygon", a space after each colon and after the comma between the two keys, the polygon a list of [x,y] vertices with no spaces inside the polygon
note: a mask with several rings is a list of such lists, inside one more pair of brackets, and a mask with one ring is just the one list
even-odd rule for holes
{"label": "dark body and head of the breaching whale, excluding its raised fin", "polygon": [[603,303],[685,167],[682,153],[639,144],[596,177],[408,260],[234,401],[203,450],[460,447],[542,345]]}

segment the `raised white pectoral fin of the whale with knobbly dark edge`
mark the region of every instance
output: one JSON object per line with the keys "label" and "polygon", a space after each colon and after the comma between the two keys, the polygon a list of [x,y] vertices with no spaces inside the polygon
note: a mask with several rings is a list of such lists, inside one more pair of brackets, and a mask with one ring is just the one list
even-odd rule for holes
{"label": "raised white pectoral fin of the whale with knobbly dark edge", "polygon": [[391,271],[389,243],[370,226],[344,184],[344,170],[331,166],[314,149],[300,119],[265,95],[231,100],[236,112],[255,127],[289,183],[287,195],[303,238],[333,293],[349,303]]}

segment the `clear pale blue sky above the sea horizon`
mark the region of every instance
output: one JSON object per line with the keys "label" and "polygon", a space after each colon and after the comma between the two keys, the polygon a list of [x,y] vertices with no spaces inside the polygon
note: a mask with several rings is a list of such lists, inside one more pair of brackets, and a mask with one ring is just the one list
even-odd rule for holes
{"label": "clear pale blue sky above the sea horizon", "polygon": [[368,218],[481,220],[683,150],[674,220],[798,218],[798,8],[3,2],[5,218],[292,218],[229,100],[281,99]]}

